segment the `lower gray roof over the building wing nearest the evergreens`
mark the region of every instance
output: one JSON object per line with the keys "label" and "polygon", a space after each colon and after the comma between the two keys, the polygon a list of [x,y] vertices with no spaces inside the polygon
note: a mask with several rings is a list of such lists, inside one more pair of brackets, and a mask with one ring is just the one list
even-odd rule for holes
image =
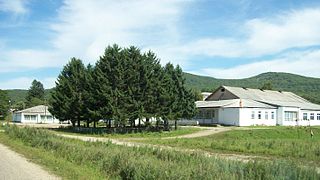
{"label": "lower gray roof over the building wing nearest the evergreens", "polygon": [[196,106],[198,108],[275,108],[274,106],[260,103],[250,99],[230,99],[220,101],[197,101]]}

